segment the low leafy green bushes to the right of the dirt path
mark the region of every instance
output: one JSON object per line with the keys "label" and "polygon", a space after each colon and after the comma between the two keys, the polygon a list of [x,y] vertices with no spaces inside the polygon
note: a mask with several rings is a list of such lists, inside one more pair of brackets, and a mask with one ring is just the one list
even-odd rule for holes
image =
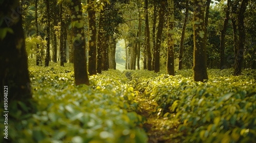
{"label": "low leafy green bushes to the right of the dirt path", "polygon": [[157,103],[150,111],[153,118],[169,121],[155,126],[155,130],[162,127],[163,133],[173,131],[158,137],[158,142],[255,142],[256,70],[246,69],[234,77],[231,69],[210,69],[205,83],[194,82],[192,70],[178,71],[177,76],[124,72],[145,99]]}

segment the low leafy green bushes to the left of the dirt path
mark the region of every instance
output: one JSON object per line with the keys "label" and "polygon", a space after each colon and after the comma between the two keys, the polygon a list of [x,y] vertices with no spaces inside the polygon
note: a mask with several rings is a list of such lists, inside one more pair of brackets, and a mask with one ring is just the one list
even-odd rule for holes
{"label": "low leafy green bushes to the left of the dirt path", "polygon": [[[22,114],[20,110],[29,107],[12,104],[9,142],[146,142],[141,128],[145,119],[135,112],[136,92],[120,71],[104,71],[90,77],[90,86],[75,86],[72,64],[40,67],[31,62],[37,109]],[[0,142],[4,141],[1,134]]]}

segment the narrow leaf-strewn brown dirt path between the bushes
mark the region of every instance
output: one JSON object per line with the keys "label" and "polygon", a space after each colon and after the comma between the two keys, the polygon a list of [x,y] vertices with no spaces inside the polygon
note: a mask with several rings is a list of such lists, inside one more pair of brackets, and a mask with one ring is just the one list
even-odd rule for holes
{"label": "narrow leaf-strewn brown dirt path between the bushes", "polygon": [[167,117],[158,116],[155,112],[157,103],[138,96],[140,111],[138,114],[146,117],[146,123],[143,125],[148,136],[148,143],[160,142],[180,142],[175,138],[177,134],[177,123],[172,123]]}

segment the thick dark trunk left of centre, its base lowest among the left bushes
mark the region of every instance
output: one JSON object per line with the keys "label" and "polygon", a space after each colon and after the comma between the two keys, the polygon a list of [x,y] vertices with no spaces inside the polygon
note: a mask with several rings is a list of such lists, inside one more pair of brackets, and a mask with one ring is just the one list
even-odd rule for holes
{"label": "thick dark trunk left of centre, its base lowest among the left bushes", "polygon": [[81,1],[72,0],[70,3],[71,25],[73,32],[73,49],[74,49],[74,73],[75,84],[89,85],[86,64],[86,41],[84,39],[83,19],[81,10]]}

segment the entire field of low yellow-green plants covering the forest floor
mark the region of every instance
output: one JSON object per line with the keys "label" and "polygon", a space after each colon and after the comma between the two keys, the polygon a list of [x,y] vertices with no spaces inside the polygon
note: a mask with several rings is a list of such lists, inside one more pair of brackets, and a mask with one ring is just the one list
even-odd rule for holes
{"label": "entire field of low yellow-green plants covering the forest floor", "polygon": [[233,69],[209,69],[205,83],[194,82],[190,69],[176,76],[108,70],[90,76],[90,86],[75,86],[73,64],[34,63],[35,113],[10,103],[11,142],[256,141],[256,70],[234,77]]}

